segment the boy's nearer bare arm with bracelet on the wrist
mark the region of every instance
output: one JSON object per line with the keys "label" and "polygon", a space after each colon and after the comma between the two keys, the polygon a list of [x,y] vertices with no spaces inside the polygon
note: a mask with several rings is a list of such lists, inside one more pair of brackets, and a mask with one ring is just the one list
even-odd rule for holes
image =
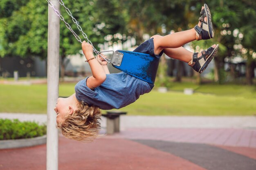
{"label": "boy's nearer bare arm with bracelet on the wrist", "polygon": [[87,79],[86,85],[88,86],[88,88],[94,89],[100,86],[105,81],[106,73],[103,67],[101,66],[101,64],[99,64],[97,60],[92,59],[94,55],[93,55],[93,49],[91,44],[83,41],[82,50],[86,60],[88,60],[88,63],[92,71],[92,76]]}

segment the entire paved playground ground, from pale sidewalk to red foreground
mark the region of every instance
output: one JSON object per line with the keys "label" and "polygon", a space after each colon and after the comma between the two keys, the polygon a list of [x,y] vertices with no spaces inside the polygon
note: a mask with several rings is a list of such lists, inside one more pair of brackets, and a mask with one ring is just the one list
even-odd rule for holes
{"label": "entire paved playground ground, from pale sidewalk to red foreground", "polygon": [[[6,115],[0,114],[0,117]],[[10,116],[32,119],[36,115]],[[45,115],[39,116],[35,119],[46,118]],[[153,119],[159,117],[121,117],[120,133],[103,136],[88,144],[60,135],[59,170],[256,169],[255,117],[164,118],[174,119],[170,122],[174,125],[162,121],[161,128],[160,124],[153,123]],[[135,126],[136,121],[132,122],[132,119],[145,122]],[[104,121],[101,133],[105,133]],[[200,125],[200,122],[207,123]],[[0,170],[45,169],[46,145],[0,150]]]}

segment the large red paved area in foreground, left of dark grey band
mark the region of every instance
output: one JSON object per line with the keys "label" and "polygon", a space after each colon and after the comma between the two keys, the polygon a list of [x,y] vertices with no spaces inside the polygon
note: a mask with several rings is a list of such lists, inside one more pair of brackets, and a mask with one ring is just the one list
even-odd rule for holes
{"label": "large red paved area in foreground, left of dark grey band", "polygon": [[[0,150],[1,170],[45,170],[46,145]],[[205,170],[175,155],[126,139],[83,144],[59,138],[60,170]]]}

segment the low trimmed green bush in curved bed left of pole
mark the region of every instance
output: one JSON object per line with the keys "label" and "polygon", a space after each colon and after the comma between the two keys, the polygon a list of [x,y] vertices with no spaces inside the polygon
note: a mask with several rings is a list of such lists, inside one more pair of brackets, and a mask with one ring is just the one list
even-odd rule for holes
{"label": "low trimmed green bush in curved bed left of pole", "polygon": [[0,119],[0,140],[26,139],[46,134],[46,125],[18,119]]}

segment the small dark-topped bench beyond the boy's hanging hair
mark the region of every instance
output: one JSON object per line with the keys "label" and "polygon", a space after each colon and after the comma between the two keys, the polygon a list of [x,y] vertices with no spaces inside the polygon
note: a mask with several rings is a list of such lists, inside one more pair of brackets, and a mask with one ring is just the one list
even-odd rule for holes
{"label": "small dark-topped bench beyond the boy's hanging hair", "polygon": [[120,131],[120,115],[126,115],[126,112],[108,111],[107,114],[102,114],[107,118],[107,134]]}

